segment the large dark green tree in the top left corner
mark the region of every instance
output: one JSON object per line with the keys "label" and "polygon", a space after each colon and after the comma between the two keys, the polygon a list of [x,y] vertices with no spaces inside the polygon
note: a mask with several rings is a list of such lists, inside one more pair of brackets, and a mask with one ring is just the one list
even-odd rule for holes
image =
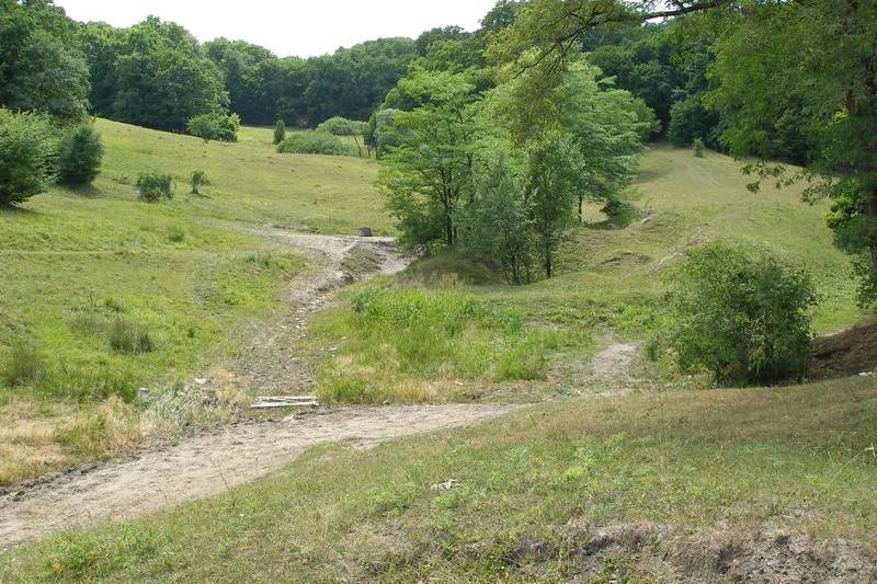
{"label": "large dark green tree in the top left corner", "polygon": [[86,116],[89,68],[73,31],[52,2],[0,1],[0,107]]}

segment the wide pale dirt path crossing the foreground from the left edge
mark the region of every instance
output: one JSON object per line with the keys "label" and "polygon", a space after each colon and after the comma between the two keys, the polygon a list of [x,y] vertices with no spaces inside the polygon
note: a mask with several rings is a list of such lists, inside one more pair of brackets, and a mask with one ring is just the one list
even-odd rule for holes
{"label": "wide pale dirt path crossing the foreground from the left edge", "polygon": [[66,474],[0,499],[0,548],[55,530],[122,519],[219,493],[288,462],[309,446],[390,438],[474,424],[514,409],[498,404],[351,408],[301,420],[246,423]]}

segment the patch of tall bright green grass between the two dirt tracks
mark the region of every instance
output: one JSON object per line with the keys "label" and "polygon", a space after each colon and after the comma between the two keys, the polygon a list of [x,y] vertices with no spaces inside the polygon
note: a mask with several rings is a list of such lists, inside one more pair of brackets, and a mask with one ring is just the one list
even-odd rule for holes
{"label": "patch of tall bright green grass between the two dirt tracks", "polygon": [[319,369],[321,397],[356,403],[447,398],[459,379],[536,379],[560,342],[525,328],[522,312],[492,308],[457,288],[369,286],[312,331],[340,343]]}

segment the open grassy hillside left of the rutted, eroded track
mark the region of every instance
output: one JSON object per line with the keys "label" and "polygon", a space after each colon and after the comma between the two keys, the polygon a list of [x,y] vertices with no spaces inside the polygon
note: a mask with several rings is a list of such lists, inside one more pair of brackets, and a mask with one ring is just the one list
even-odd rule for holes
{"label": "open grassy hillside left of the rutted, eroded track", "polygon": [[[134,414],[102,413],[104,399],[130,402],[138,387],[173,386],[234,355],[306,267],[237,227],[390,229],[374,163],[276,154],[269,129],[205,144],[96,127],[106,152],[93,188],[0,209],[0,484],[127,445],[126,430],[104,428],[119,416],[127,428]],[[196,169],[212,181],[201,196],[186,186]],[[172,201],[136,198],[147,170],[174,176]],[[138,352],[141,341],[151,350]]]}

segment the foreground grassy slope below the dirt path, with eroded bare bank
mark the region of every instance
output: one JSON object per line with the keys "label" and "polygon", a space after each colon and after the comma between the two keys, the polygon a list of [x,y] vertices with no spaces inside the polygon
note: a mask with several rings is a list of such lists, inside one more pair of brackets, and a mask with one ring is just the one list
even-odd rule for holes
{"label": "foreground grassy slope below the dirt path, with eroded bare bank", "polygon": [[8,552],[0,574],[865,582],[875,408],[874,379],[565,400],[368,453],[316,448],[221,496]]}

